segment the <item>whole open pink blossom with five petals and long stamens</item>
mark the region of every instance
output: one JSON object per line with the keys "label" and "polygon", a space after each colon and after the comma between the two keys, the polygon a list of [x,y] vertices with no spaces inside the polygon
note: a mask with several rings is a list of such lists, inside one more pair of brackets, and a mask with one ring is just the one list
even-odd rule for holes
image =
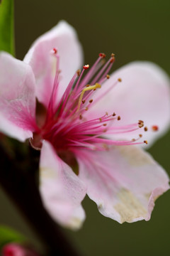
{"label": "whole open pink blossom with five petals and long stamens", "polygon": [[77,71],[81,45],[64,21],[23,61],[0,55],[0,130],[41,149],[44,206],[74,229],[85,218],[86,193],[103,215],[131,223],[149,220],[169,189],[164,169],[141,147],[169,127],[169,78],[153,63],[135,62],[108,79],[115,57],[104,58]]}

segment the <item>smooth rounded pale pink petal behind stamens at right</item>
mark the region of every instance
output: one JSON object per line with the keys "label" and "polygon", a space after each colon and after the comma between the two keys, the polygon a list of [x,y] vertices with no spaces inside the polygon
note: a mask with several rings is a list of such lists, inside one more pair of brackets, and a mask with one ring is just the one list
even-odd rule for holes
{"label": "smooth rounded pale pink petal behind stamens at right", "polygon": [[[121,78],[122,82],[117,82],[118,78]],[[107,90],[108,93],[105,95]],[[98,97],[101,100],[95,103]],[[120,115],[120,121],[115,120],[113,123],[115,126],[132,124],[142,119],[148,128],[145,139],[151,145],[154,139],[166,132],[169,127],[169,77],[154,63],[134,62],[125,65],[113,73],[102,88],[96,91],[94,102],[86,115],[89,118],[98,117],[105,112]],[[155,125],[159,129],[152,132],[152,126]],[[142,130],[138,130],[137,134],[140,132]],[[131,133],[122,134],[124,139],[132,139],[132,136]]]}

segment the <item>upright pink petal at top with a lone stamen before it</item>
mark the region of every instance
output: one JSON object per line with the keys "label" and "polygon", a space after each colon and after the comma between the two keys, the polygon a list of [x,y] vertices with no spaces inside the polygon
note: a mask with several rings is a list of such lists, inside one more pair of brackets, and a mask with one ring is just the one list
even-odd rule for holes
{"label": "upright pink petal at top with a lone stamen before it", "polygon": [[78,68],[81,68],[82,50],[74,28],[60,21],[54,28],[40,36],[28,51],[24,61],[33,68],[37,82],[36,95],[46,107],[55,80],[56,59],[50,51],[56,48],[60,55],[60,80],[58,100]]}

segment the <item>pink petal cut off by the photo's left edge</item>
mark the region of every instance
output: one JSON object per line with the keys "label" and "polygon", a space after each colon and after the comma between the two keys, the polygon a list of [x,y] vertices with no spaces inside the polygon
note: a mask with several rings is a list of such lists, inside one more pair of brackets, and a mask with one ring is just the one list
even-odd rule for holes
{"label": "pink petal cut off by the photo's left edge", "polygon": [[35,129],[35,79],[30,66],[0,53],[0,131],[24,141]]}

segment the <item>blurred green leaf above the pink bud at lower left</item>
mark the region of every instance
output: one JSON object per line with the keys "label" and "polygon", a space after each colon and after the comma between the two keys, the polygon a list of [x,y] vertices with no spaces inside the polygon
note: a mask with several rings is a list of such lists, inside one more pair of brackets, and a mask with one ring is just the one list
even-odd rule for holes
{"label": "blurred green leaf above the pink bud at lower left", "polygon": [[27,239],[16,230],[8,228],[4,225],[0,226],[0,247],[8,242],[25,242]]}

